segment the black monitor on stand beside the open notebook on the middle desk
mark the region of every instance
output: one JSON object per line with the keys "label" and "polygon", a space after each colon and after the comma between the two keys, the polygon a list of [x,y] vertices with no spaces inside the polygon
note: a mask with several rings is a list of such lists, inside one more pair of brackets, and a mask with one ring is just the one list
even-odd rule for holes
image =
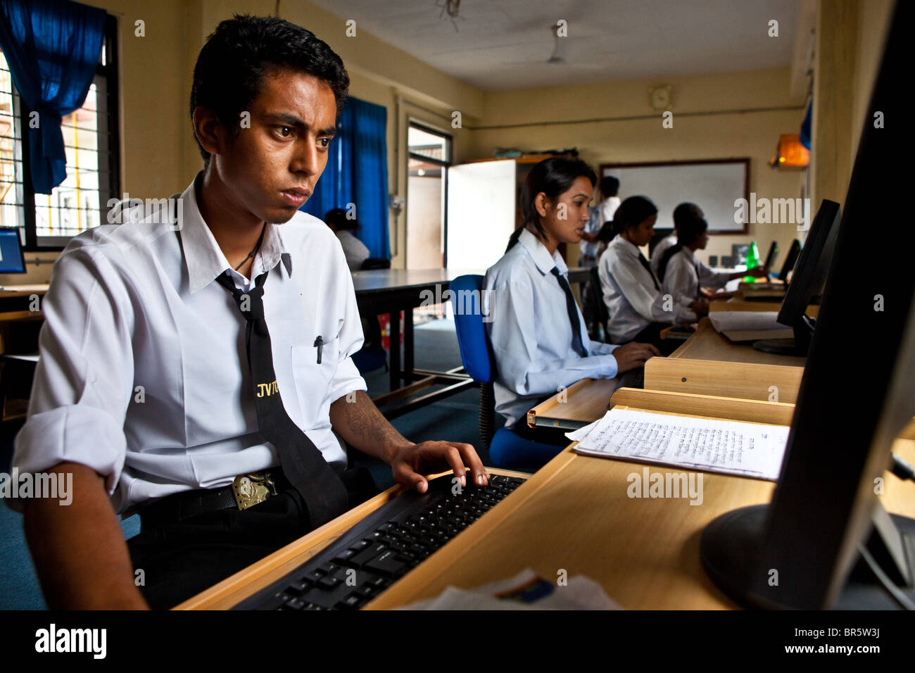
{"label": "black monitor on stand beside the open notebook on the middle desk", "polygon": [[835,201],[823,199],[813,218],[807,244],[803,246],[791,285],[781,300],[778,321],[794,330],[793,339],[761,339],[753,348],[763,353],[806,355],[810,350],[815,320],[806,315],[814,296],[823,294],[826,274],[833,259],[835,237],[842,210]]}

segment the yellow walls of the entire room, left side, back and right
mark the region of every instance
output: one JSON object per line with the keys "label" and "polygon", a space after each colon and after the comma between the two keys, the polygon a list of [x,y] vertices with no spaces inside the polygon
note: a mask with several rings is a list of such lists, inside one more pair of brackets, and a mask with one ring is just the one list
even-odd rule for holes
{"label": "yellow walls of the entire room, left side, back and right", "polygon": [[[201,167],[188,119],[194,61],[216,24],[234,12],[271,14],[274,0],[83,0],[117,16],[121,64],[122,189],[132,197],[159,198],[183,190]],[[844,131],[854,157],[856,138],[867,110],[886,32],[891,0],[845,0],[856,21],[850,69],[834,76],[852,81],[852,122]],[[425,65],[357,26],[357,37],[345,35],[345,19],[307,2],[285,2],[280,16],[313,30],[335,49],[350,71],[351,95],[382,104],[388,111],[388,167],[392,191],[406,197],[406,127],[409,119],[447,131],[454,137],[460,162],[489,157],[493,147],[578,147],[597,164],[614,161],[750,157],[749,190],[770,198],[800,196],[802,174],[772,171],[768,161],[780,133],[795,132],[802,100],[789,94],[788,69],[731,72],[658,80],[615,81],[513,92],[481,92]],[[145,22],[145,37],[135,36],[135,21]],[[823,37],[821,37],[823,38]],[[828,36],[824,37],[828,39]],[[817,63],[815,67],[823,68]],[[651,84],[673,85],[673,129],[663,129],[660,115],[648,105]],[[845,103],[847,104],[847,103]],[[758,108],[769,112],[733,112]],[[450,127],[459,110],[464,127]],[[689,114],[696,114],[690,116]],[[722,114],[723,113],[723,114]],[[592,118],[644,116],[618,121],[547,124]],[[521,124],[537,123],[530,126]],[[485,128],[509,125],[509,128]],[[814,147],[814,151],[815,151]],[[814,163],[818,171],[847,173],[850,166]],[[701,204],[700,204],[701,205]],[[815,204],[814,204],[815,207]],[[393,266],[404,265],[405,214],[391,217]],[[782,247],[796,233],[791,225],[750,224],[746,236],[713,236],[705,255],[723,255],[733,243],[755,239],[765,248],[772,239]],[[575,253],[572,253],[573,260]],[[30,253],[44,260],[54,254]],[[29,265],[22,276],[0,276],[0,283],[47,281],[49,264]]]}

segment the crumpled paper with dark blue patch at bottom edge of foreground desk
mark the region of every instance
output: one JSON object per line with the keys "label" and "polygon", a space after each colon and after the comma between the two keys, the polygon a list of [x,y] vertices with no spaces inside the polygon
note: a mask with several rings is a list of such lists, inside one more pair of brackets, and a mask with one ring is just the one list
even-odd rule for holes
{"label": "crumpled paper with dark blue patch at bottom edge of foreground desk", "polygon": [[531,569],[507,580],[475,589],[448,586],[436,598],[413,602],[399,610],[620,610],[604,588],[585,575],[564,585],[546,581]]}

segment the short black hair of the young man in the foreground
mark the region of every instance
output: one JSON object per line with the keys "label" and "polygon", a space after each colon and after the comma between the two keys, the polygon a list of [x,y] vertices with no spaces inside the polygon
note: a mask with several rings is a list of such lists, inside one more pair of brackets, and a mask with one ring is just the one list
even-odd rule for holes
{"label": "short black hair of the young man in the foreground", "polygon": [[[328,82],[337,114],[350,90],[343,61],[310,30],[275,16],[236,14],[222,21],[200,49],[190,89],[190,118],[194,109],[212,110],[235,133],[239,117],[264,87],[264,75],[288,69]],[[210,153],[197,139],[204,165]]]}

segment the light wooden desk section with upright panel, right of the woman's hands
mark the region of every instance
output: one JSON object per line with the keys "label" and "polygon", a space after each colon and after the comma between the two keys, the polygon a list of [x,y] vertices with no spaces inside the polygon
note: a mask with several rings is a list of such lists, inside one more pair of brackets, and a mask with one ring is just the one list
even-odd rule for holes
{"label": "light wooden desk section with upright panel, right of the woman's hands", "polygon": [[760,353],[729,342],[703,318],[671,355],[645,363],[645,388],[768,401],[774,385],[778,401],[795,402],[805,362],[803,357]]}

